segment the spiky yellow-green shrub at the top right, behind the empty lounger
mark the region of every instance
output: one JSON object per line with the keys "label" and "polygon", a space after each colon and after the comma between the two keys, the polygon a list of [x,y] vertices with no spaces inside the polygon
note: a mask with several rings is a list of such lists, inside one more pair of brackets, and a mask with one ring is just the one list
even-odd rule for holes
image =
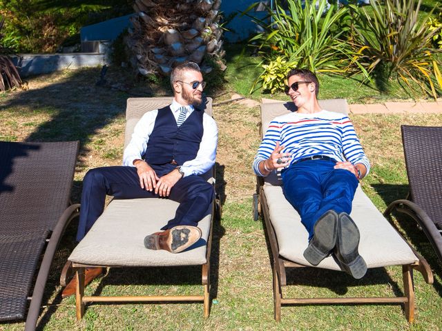
{"label": "spiky yellow-green shrub at the top right, behind the empty lounger", "polygon": [[372,74],[378,88],[388,92],[392,79],[414,97],[416,86],[434,98],[442,88],[441,49],[432,47],[432,39],[441,27],[427,26],[433,10],[418,19],[421,0],[371,1],[372,10],[352,6],[356,15],[356,43],[361,48],[360,63]]}

